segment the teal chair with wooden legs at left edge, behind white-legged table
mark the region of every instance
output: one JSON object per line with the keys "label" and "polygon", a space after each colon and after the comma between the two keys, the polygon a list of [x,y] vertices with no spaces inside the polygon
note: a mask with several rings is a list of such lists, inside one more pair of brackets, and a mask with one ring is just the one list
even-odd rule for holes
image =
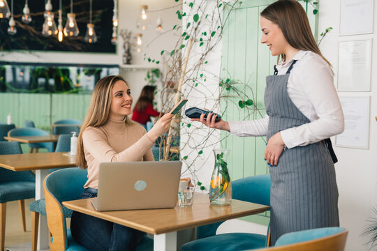
{"label": "teal chair with wooden legs at left edge, behind white-legged table", "polygon": [[[0,154],[20,154],[18,142],[0,142]],[[13,172],[0,167],[0,250],[4,250],[6,229],[6,202],[18,200],[21,209],[22,228],[26,231],[24,199],[34,198],[36,176],[31,171]]]}

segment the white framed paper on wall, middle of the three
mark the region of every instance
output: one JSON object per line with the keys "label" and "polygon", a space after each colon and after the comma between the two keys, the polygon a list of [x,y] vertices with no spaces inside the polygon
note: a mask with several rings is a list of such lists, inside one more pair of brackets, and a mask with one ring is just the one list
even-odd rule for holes
{"label": "white framed paper on wall, middle of the three", "polygon": [[371,91],[372,38],[339,40],[337,91]]}

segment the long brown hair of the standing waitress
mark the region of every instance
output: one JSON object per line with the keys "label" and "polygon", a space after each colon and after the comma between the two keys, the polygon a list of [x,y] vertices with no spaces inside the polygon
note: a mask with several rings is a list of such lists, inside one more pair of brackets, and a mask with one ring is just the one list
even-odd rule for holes
{"label": "long brown hair of the standing waitress", "polygon": [[[267,6],[260,15],[279,25],[287,42],[297,50],[311,51],[331,63],[320,53],[316,40],[311,33],[308,17],[297,0],[279,0]],[[286,59],[286,55],[282,55]]]}

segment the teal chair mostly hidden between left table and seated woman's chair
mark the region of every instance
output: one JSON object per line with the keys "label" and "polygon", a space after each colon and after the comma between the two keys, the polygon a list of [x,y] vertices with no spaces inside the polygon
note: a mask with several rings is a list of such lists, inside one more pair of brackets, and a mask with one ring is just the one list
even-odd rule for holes
{"label": "teal chair mostly hidden between left table and seated woman's chair", "polygon": [[[57,148],[55,149],[55,153],[57,152],[68,152],[71,149],[71,135],[59,135],[59,139],[57,142]],[[50,173],[58,170],[50,169]],[[63,214],[65,218],[71,218],[72,210],[62,206]],[[36,239],[38,238],[38,220],[39,215],[47,215],[46,213],[46,205],[45,199],[37,199],[35,201],[31,201],[29,204],[29,210],[31,212],[31,239],[34,240],[31,242],[31,250],[36,251]]]}

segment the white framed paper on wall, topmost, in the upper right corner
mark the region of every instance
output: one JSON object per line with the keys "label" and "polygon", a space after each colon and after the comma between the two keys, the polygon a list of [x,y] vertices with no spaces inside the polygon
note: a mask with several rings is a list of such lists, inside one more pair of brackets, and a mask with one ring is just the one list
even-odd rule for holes
{"label": "white framed paper on wall, topmost, in the upper right corner", "polygon": [[374,0],[341,0],[339,36],[373,33],[373,16]]}

